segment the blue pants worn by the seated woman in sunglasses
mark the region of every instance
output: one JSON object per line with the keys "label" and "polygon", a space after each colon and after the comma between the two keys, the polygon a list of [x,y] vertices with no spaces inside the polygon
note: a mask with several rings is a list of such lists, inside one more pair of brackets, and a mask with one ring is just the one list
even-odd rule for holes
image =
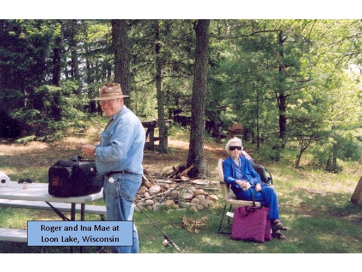
{"label": "blue pants worn by the seated woman in sunglasses", "polygon": [[[278,219],[279,220],[279,207],[278,207],[278,198],[275,190],[272,187],[267,186],[267,184],[261,184],[261,191],[257,192],[255,187],[250,187],[254,200],[260,202],[262,206],[269,207],[269,219]],[[234,190],[236,199],[242,200],[252,200],[251,193],[249,190],[239,189]]]}

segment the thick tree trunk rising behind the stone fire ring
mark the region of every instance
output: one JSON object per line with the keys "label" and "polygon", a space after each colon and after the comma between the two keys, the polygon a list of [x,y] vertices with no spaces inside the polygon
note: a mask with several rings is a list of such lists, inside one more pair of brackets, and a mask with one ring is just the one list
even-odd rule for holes
{"label": "thick tree trunk rising behind the stone fire ring", "polygon": [[[210,20],[198,20],[196,25],[196,52],[192,92],[191,132],[187,167],[204,160],[205,104]],[[196,169],[196,170],[195,170]],[[194,167],[189,175],[197,176],[204,169]]]}

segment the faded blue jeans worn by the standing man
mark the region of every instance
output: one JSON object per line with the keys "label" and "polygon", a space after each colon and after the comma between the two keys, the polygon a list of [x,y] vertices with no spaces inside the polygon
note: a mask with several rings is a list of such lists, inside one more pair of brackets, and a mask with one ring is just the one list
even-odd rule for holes
{"label": "faded blue jeans worn by the standing man", "polygon": [[[114,182],[110,182],[114,180]],[[131,221],[133,199],[142,181],[142,175],[115,174],[105,179],[103,197],[107,221]],[[112,246],[113,253],[139,253],[138,233],[133,223],[133,246]]]}

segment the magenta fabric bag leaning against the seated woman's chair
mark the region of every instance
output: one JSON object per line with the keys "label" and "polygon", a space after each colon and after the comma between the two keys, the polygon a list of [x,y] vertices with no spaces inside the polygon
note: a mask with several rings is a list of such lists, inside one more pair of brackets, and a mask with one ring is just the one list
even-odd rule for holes
{"label": "magenta fabric bag leaning against the seated woman's chair", "polygon": [[234,210],[231,239],[264,242],[271,239],[269,208],[238,206]]}

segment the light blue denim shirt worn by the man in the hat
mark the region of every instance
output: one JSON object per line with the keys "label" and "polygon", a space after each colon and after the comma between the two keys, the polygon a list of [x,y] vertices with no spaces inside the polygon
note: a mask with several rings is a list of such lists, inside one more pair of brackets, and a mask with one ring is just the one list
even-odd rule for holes
{"label": "light blue denim shirt worn by the man in the hat", "polygon": [[128,171],[143,174],[143,148],[145,130],[138,117],[125,105],[120,112],[109,119],[106,130],[101,132],[97,144],[97,172]]}

